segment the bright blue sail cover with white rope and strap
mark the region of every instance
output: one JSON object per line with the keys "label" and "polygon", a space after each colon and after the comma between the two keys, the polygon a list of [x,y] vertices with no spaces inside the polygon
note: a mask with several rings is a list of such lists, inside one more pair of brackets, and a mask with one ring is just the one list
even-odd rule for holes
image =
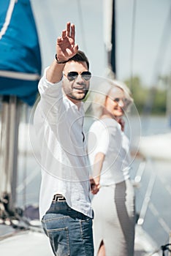
{"label": "bright blue sail cover with white rope and strap", "polygon": [[29,0],[0,1],[0,94],[33,105],[41,74],[39,39]]}

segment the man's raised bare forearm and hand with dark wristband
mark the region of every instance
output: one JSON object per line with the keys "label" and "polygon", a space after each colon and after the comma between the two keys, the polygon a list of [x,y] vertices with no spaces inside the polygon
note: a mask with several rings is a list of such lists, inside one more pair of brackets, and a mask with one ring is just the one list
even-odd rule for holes
{"label": "man's raised bare forearm and hand with dark wristband", "polygon": [[[68,61],[75,56],[78,45],[75,45],[75,25],[66,23],[66,29],[62,31],[61,37],[56,42],[56,58],[58,62]],[[47,69],[46,78],[50,83],[58,83],[62,78],[65,64],[58,64],[56,59]]]}

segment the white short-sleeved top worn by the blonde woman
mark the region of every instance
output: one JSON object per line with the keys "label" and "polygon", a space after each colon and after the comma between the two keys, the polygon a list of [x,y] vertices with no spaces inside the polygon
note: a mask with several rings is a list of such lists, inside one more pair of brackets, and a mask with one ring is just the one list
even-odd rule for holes
{"label": "white short-sleeved top worn by the blonde woman", "polygon": [[94,121],[88,132],[88,157],[91,169],[94,169],[94,158],[103,153],[100,185],[109,186],[129,178],[131,157],[129,139],[121,131],[121,125],[113,118]]}

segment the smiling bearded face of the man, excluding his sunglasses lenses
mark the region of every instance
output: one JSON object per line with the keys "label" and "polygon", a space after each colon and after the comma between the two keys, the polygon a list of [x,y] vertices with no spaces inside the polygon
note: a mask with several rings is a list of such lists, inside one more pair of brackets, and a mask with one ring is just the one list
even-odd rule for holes
{"label": "smiling bearded face of the man, excluding his sunglasses lenses", "polygon": [[[86,61],[69,61],[64,67],[63,89],[66,96],[74,103],[80,102],[86,97],[89,89],[89,80],[85,80],[80,74],[88,71]],[[69,72],[77,72],[79,75],[74,80],[68,80]]]}

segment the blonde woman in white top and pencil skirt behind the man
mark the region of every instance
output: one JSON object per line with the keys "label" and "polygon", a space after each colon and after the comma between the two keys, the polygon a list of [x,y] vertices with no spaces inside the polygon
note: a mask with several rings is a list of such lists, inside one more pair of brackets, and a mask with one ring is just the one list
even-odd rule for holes
{"label": "blonde woman in white top and pencil skirt behind the man", "polygon": [[132,102],[129,89],[116,80],[108,81],[93,97],[97,120],[88,132],[88,155],[99,189],[92,190],[98,256],[134,255],[134,189],[129,180],[129,140],[122,119]]}

